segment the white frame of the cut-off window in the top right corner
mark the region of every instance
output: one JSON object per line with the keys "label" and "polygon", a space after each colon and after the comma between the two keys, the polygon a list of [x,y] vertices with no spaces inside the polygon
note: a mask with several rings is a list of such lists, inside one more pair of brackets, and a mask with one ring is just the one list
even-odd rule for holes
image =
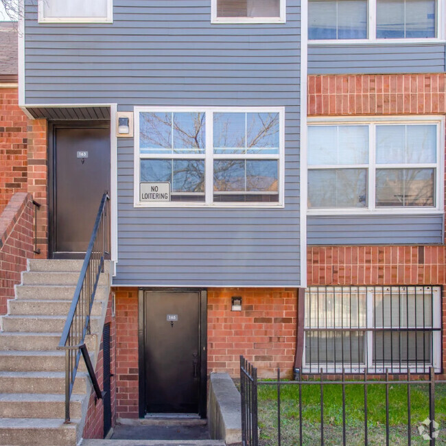
{"label": "white frame of the cut-off window in the top right corner", "polygon": [[[308,3],[312,0],[307,0]],[[367,44],[382,44],[391,45],[392,43],[444,43],[446,39],[446,0],[436,0],[436,37],[427,38],[377,38],[376,23],[377,23],[377,0],[368,0],[367,2],[367,36],[368,38],[344,38],[344,39],[308,39],[308,45],[363,45]],[[307,26],[308,18],[307,18]]]}

